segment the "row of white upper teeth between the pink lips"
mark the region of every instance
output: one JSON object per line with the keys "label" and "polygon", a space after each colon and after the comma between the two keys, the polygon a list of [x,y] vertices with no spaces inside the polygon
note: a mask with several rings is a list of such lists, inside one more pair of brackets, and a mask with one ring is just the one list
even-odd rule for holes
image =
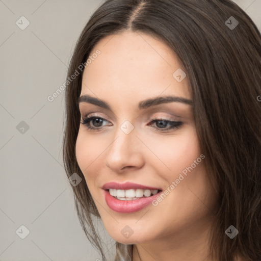
{"label": "row of white upper teeth between the pink lips", "polygon": [[116,189],[110,189],[110,194],[117,198],[142,198],[143,195],[145,197],[149,197],[151,194],[155,195],[158,193],[158,190],[116,190]]}

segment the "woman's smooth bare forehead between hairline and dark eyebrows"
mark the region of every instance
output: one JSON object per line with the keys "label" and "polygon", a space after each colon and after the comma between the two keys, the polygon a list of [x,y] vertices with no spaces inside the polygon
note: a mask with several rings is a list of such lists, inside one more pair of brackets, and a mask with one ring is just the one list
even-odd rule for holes
{"label": "woman's smooth bare forehead between hairline and dark eyebrows", "polygon": [[[97,50],[100,54],[92,57]],[[123,100],[161,94],[191,99],[187,77],[181,82],[175,78],[176,71],[185,71],[181,61],[168,45],[153,36],[128,31],[107,36],[93,47],[90,58],[81,94]]]}

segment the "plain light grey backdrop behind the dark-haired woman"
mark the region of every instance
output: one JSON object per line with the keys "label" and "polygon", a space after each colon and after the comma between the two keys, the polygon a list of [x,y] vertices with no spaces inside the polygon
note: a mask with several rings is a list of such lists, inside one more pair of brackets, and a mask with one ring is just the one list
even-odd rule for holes
{"label": "plain light grey backdrop behind the dark-haired woman", "polygon": [[[261,0],[234,2],[260,30]],[[53,102],[47,96],[65,82],[76,40],[101,3],[0,0],[1,261],[100,257],[77,219],[63,168],[64,93]],[[24,30],[16,25],[21,16],[30,22]],[[30,230],[24,239],[16,233],[21,225]],[[113,241],[99,228],[113,254]]]}

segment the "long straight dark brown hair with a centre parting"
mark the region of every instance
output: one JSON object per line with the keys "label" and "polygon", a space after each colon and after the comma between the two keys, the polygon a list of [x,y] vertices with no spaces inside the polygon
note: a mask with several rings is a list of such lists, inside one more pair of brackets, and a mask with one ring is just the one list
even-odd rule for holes
{"label": "long straight dark brown hair with a centre parting", "polygon": [[[80,72],[66,88],[63,158],[67,176],[76,172],[84,179],[75,156],[83,75],[78,68],[100,39],[124,30],[161,39],[186,69],[198,139],[219,195],[213,259],[231,261],[240,254],[260,261],[261,35],[251,18],[230,0],[108,0],[93,13],[77,41],[67,75]],[[93,224],[93,217],[100,216],[86,182],[72,189],[82,228],[106,260]],[[233,239],[225,233],[230,225],[239,230]],[[132,247],[117,242],[115,260],[132,260]]]}

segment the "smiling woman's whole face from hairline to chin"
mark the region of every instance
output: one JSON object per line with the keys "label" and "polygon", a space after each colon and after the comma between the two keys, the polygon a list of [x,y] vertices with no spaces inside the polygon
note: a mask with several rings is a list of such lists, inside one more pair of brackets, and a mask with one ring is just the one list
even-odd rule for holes
{"label": "smiling woman's whole face from hairline to chin", "polygon": [[[135,244],[204,231],[216,197],[181,62],[163,42],[127,31],[90,56],[80,96],[93,99],[79,108],[81,122],[94,119],[79,122],[76,158],[108,233]],[[167,96],[178,99],[159,99]]]}

